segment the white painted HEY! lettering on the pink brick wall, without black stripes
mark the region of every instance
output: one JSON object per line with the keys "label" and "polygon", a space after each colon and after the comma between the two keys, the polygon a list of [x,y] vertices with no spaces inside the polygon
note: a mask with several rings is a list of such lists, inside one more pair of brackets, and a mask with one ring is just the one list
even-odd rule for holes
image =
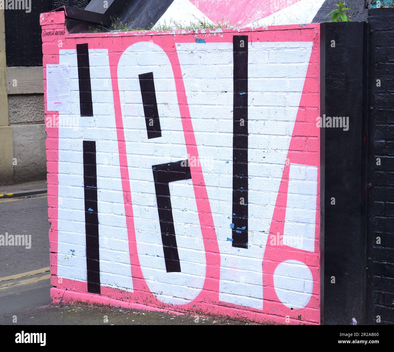
{"label": "white painted HEY! lettering on the pink brick wall, without black stripes", "polygon": [[[110,40],[103,38],[104,41],[106,39]],[[295,124],[303,122],[296,122],[296,119],[299,118],[297,113],[310,65],[312,45],[311,41],[249,43],[247,249],[232,247],[230,241],[232,42],[179,42],[175,46],[220,251],[217,294],[222,306],[237,305],[238,309],[244,307],[255,311],[265,309],[262,261],[266,245],[269,244],[275,205],[278,197],[283,196],[279,194],[279,187],[285,166],[289,166],[288,151],[291,142],[298,141],[301,147],[294,147],[293,151],[307,153],[306,141],[314,137],[308,132],[301,135],[293,133]],[[55,151],[59,158],[57,275],[78,282],[87,280],[82,141],[95,140],[100,283],[101,286],[133,292],[135,287],[130,257],[137,254],[129,251],[130,229],[126,226],[129,210],[125,210],[125,188],[119,167],[119,135],[111,79],[113,72],[110,71],[108,50],[93,47],[89,49],[93,117],[80,116],[76,51],[59,51],[59,63],[70,65],[71,115],[79,119],[79,125],[74,128],[60,127],[58,150],[48,147],[48,155],[51,156],[52,151]],[[207,267],[212,265],[206,262],[199,219],[201,214],[197,209],[193,182],[170,183],[181,272],[167,273],[152,175],[152,165],[188,157],[171,61],[156,44],[141,41],[125,47],[116,72],[130,177],[130,180],[124,181],[128,182],[131,190],[131,195],[127,194],[126,197],[132,200],[139,265],[149,290],[160,302],[175,305],[192,303],[203,289]],[[147,139],[138,81],[138,74],[146,72],[154,74],[162,129],[160,138]],[[319,94],[318,91],[304,93],[314,93],[316,97]],[[305,104],[316,111],[319,109],[318,98],[309,99]],[[60,117],[62,115],[60,113]],[[48,158],[49,163],[53,161],[56,161],[56,157]],[[315,233],[317,195],[317,166],[307,162],[290,162],[284,239],[301,236],[303,246],[298,249],[312,253],[315,252],[315,241],[318,241],[318,232]],[[208,200],[205,202],[208,203]],[[268,258],[268,261],[276,260],[277,257]],[[272,273],[269,275],[272,277]],[[312,280],[310,268],[304,263],[287,260],[280,264],[273,275],[278,299],[273,296],[268,298],[271,307],[276,305],[279,308],[267,314],[281,315],[281,306],[307,306],[312,295],[312,285],[316,284]],[[315,305],[310,309],[318,310],[319,307]]]}

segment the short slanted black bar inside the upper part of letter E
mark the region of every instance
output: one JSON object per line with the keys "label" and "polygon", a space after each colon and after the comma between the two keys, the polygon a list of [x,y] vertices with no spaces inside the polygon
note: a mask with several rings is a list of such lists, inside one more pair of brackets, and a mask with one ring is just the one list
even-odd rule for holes
{"label": "short slanted black bar inside the upper part of letter E", "polygon": [[148,139],[162,136],[159,112],[157,109],[156,90],[154,89],[153,72],[138,75],[141,88],[142,104],[144,107],[145,124]]}

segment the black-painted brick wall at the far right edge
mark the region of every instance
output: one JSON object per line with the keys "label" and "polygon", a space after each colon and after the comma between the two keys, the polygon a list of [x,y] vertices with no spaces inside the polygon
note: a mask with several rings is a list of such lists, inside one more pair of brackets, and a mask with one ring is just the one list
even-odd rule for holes
{"label": "black-painted brick wall at the far right edge", "polygon": [[[370,9],[367,316],[394,323],[394,9]],[[377,87],[380,79],[381,87]],[[380,166],[377,165],[380,158]],[[380,244],[377,244],[380,237]],[[373,302],[369,304],[368,302]]]}

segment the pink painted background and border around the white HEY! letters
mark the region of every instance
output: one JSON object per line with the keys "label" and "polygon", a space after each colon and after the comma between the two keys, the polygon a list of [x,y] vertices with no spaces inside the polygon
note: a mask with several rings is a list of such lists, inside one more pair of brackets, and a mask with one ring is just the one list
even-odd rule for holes
{"label": "pink painted background and border around the white HEY! letters", "polygon": [[[299,111],[297,113],[296,124],[292,134],[292,140],[288,151],[290,162],[297,164],[312,165],[318,167],[318,189],[316,199],[316,231],[315,231],[315,253],[299,251],[290,247],[270,247],[269,240],[264,255],[264,308],[256,310],[243,306],[237,306],[226,302],[219,301],[219,273],[220,273],[220,254],[216,241],[212,214],[206,186],[203,179],[201,167],[194,167],[191,170],[193,188],[199,212],[199,219],[204,238],[206,251],[206,279],[203,289],[198,297],[188,304],[177,306],[178,311],[184,312],[203,312],[219,315],[228,315],[240,319],[253,321],[273,321],[285,323],[286,316],[289,317],[292,324],[318,324],[320,323],[320,136],[319,129],[315,125],[315,117],[320,115],[320,25],[309,24],[305,26],[272,26],[265,28],[243,28],[243,29],[223,29],[223,30],[197,30],[197,31],[155,31],[155,32],[126,32],[121,33],[84,33],[69,34],[64,25],[65,16],[62,11],[45,13],[41,15],[40,22],[43,31],[64,30],[65,34],[60,36],[43,37],[44,53],[44,95],[46,102],[46,64],[59,63],[58,40],[62,40],[61,49],[74,49],[76,44],[89,42],[90,48],[108,49],[110,59],[110,70],[112,76],[112,86],[115,106],[115,122],[117,128],[119,162],[121,169],[123,197],[125,201],[126,225],[129,236],[130,263],[132,268],[132,278],[134,292],[130,293],[119,289],[112,289],[102,286],[102,295],[92,295],[87,293],[87,284],[76,280],[62,279],[59,284],[57,277],[57,245],[58,245],[58,128],[47,127],[46,140],[47,148],[47,168],[48,168],[48,216],[52,219],[49,232],[50,238],[50,267],[51,283],[54,287],[51,289],[51,296],[54,302],[58,299],[59,292],[63,292],[63,302],[67,299],[81,300],[85,302],[106,302],[106,304],[124,304],[133,308],[147,307],[158,310],[173,310],[174,306],[164,304],[157,300],[143,279],[142,271],[139,265],[137,254],[136,237],[133,221],[132,199],[130,194],[130,184],[128,175],[128,166],[126,158],[125,136],[123,132],[123,121],[121,116],[121,105],[119,99],[119,88],[117,85],[117,63],[123,51],[131,44],[139,41],[152,41],[161,46],[167,53],[175,77],[177,88],[180,114],[182,116],[182,126],[184,128],[185,142],[188,153],[198,156],[198,150],[194,138],[193,126],[191,123],[190,112],[188,109],[186,92],[182,80],[182,72],[178,61],[175,44],[179,42],[195,42],[195,38],[205,39],[206,42],[232,42],[234,32],[242,32],[249,35],[249,40],[255,41],[311,41],[313,49],[310,57],[307,79],[303,89],[300,101]],[[112,38],[112,39],[110,39]],[[116,50],[116,51],[115,51]],[[317,110],[305,109],[309,106],[316,107]],[[46,103],[45,103],[46,108]],[[48,121],[53,115],[58,116],[56,112],[45,109],[46,119]],[[313,123],[313,124],[312,124]],[[308,136],[305,143],[299,146],[299,136]],[[285,166],[282,176],[281,185],[275,205],[273,221],[271,223],[271,234],[279,232],[282,236],[284,227],[284,217],[286,212],[287,187],[289,166]],[[273,260],[274,259],[274,260]],[[290,310],[281,304],[273,288],[273,271],[282,260],[301,260],[312,269],[314,279],[314,289],[312,298],[307,306],[300,310]],[[61,287],[59,287],[61,286]],[[301,314],[302,320],[298,319]]]}

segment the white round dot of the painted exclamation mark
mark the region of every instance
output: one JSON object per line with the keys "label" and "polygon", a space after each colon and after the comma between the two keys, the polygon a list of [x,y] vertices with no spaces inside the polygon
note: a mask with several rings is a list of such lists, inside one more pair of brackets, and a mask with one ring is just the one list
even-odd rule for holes
{"label": "white round dot of the painted exclamation mark", "polygon": [[279,300],[288,308],[304,308],[312,296],[312,273],[303,262],[285,260],[279,264],[273,283]]}

